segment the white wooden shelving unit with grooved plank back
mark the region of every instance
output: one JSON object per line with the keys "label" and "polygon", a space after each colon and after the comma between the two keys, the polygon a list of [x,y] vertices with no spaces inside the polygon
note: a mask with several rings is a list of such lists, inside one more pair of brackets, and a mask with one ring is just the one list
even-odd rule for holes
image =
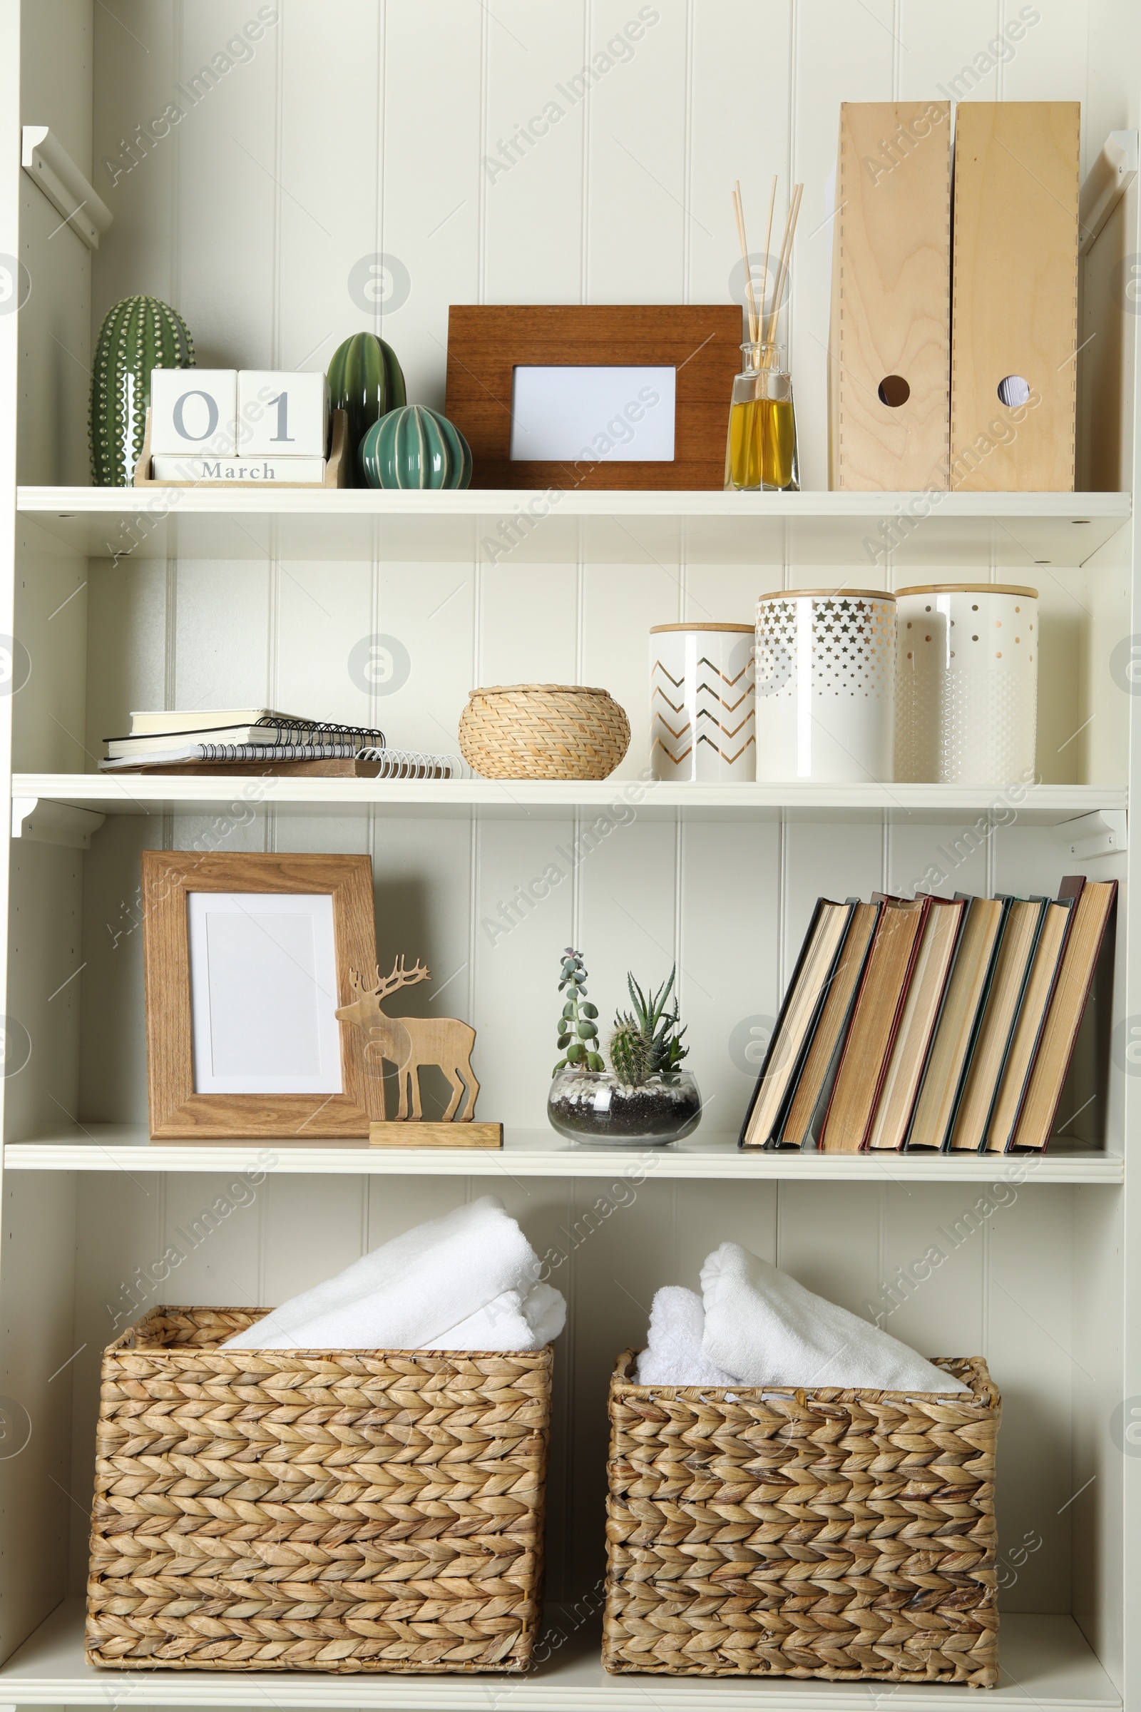
{"label": "white wooden shelving unit with grooved plank back", "polygon": [[[609,1370],[643,1337],[653,1289],[693,1286],[724,1239],[886,1313],[924,1352],[987,1358],[1004,1395],[994,1702],[1141,1703],[1141,1462],[1126,1436],[1141,1409],[1141,933],[1127,847],[1141,776],[1138,187],[1083,259],[1079,491],[823,491],[838,103],[937,98],[973,67],[972,99],[1081,99],[1088,169],[1112,130],[1139,123],[1141,14],[1040,0],[1016,51],[984,74],[1006,15],[996,24],[989,0],[895,14],[848,0],[643,7],[653,22],[633,56],[542,147],[493,171],[520,120],[636,7],[440,0],[428,22],[416,0],[289,0],[257,51],[127,169],[127,139],[250,10],[0,0],[0,269],[9,257],[24,269],[14,298],[0,294],[0,642],[15,640],[0,685],[14,832],[0,842],[0,1705],[965,1702],[968,1690],[600,1671]],[[111,211],[98,252],[21,171],[21,118],[50,127]],[[371,325],[395,346],[409,395],[443,407],[448,303],[725,301],[729,185],[741,175],[760,207],[773,169],[806,185],[787,317],[802,493],[86,484],[94,337],[128,293],[173,303],[204,366],[318,368]],[[381,257],[411,286],[373,310],[351,281]],[[1037,781],[683,791],[643,777],[650,625],[748,621],[777,587],[965,574],[1040,589]],[[388,678],[369,676],[376,642],[400,663]],[[513,681],[606,685],[633,726],[614,777],[96,772],[101,740],[135,707],[279,705],[453,750],[469,690]],[[284,1135],[151,1144],[139,858],[156,846],[368,853],[381,962],[421,955],[433,983],[409,1008],[440,1005],[477,1027],[479,1111],[506,1125],[503,1152]],[[1073,871],[1122,880],[1115,986],[1043,1157],[736,1147],[819,894],[1055,892]],[[628,969],[657,981],[677,962],[706,1106],[689,1142],[616,1152],[546,1126],[568,943],[604,1015]],[[549,1659],[522,1679],[89,1671],[79,1601],[104,1344],[163,1299],[279,1301],[489,1190],[570,1305],[547,1501],[563,1638]],[[159,1284],[173,1231],[185,1263]],[[932,1246],[943,1260],[920,1279]],[[5,1455],[24,1418],[26,1443]],[[571,1609],[558,1616],[558,1602]]]}

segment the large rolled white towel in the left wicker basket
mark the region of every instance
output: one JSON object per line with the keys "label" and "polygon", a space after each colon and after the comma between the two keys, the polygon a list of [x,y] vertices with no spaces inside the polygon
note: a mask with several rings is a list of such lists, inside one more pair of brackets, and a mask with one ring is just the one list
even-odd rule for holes
{"label": "large rolled white towel in the left wicker basket", "polygon": [[537,1279],[539,1257],[518,1224],[498,1197],[482,1195],[383,1243],[226,1342],[234,1349],[441,1347],[452,1329],[505,1293],[529,1296]]}

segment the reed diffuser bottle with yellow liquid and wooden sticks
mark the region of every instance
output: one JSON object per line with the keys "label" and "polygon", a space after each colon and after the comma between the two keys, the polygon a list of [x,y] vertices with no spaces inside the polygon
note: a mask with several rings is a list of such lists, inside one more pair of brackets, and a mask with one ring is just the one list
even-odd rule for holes
{"label": "reed diffuser bottle with yellow liquid and wooden sticks", "polygon": [[732,205],[737,219],[737,240],[744,262],[746,296],[749,312],[749,337],[741,346],[744,363],[732,383],[729,406],[729,440],[725,443],[725,486],[744,493],[799,493],[801,462],[797,455],[797,421],[792,404],[792,375],[785,365],[783,346],[777,344],[777,327],[789,281],[792,240],[804,185],[794,185],[780,260],[773,272],[773,294],[768,301],[768,245],[773,233],[773,205],[777,180],[768,199],[768,229],[765,233],[765,262],[761,272],[761,301],[758,308],[753,289],[753,265],[744,235],[744,204],[741,183],[734,187]]}

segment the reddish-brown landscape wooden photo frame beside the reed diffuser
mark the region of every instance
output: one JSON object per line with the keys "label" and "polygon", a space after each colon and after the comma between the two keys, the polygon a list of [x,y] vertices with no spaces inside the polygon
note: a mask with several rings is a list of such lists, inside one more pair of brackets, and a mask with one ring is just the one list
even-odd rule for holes
{"label": "reddish-brown landscape wooden photo frame beside the reed diffuser", "polygon": [[[446,414],[472,449],[472,488],[725,486],[732,382],[741,372],[741,308],[715,305],[452,305]],[[511,457],[517,368],[659,368],[672,372],[672,459],[612,457],[607,426],[628,438],[641,389],[626,411],[599,411],[597,433],[553,459]]]}

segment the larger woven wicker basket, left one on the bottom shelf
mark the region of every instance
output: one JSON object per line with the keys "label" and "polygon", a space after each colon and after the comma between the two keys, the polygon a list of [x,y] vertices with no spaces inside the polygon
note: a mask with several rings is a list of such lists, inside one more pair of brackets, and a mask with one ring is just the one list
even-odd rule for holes
{"label": "larger woven wicker basket, left one on the bottom shelf", "polygon": [[551,1349],[217,1347],[262,1311],[156,1308],[104,1351],[89,1664],[527,1669]]}

